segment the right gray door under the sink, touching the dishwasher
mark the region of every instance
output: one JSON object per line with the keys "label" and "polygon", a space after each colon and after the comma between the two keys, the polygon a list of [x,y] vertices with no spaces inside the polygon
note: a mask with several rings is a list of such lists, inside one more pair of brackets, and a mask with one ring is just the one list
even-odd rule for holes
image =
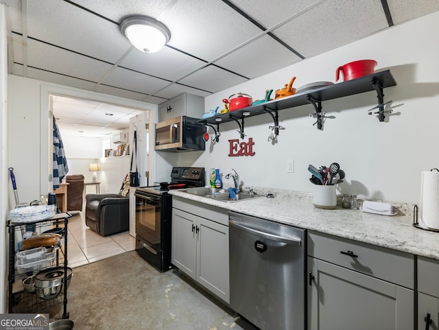
{"label": "right gray door under the sink, touching the dishwasher", "polygon": [[228,227],[198,218],[197,281],[229,302]]}

